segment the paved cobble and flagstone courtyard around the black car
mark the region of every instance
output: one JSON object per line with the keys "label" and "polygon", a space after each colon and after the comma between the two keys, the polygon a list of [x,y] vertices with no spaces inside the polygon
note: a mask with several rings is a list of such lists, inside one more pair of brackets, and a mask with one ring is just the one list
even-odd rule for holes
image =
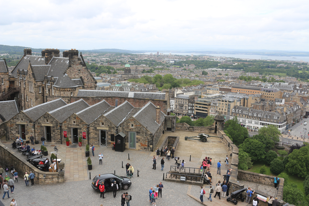
{"label": "paved cobble and flagstone courtyard around the black car", "polygon": [[[165,132],[161,137],[163,141],[166,136],[180,136],[180,143],[176,150],[175,156],[179,156],[180,159],[185,160],[186,167],[199,167],[201,160],[209,156],[212,158],[213,166],[210,171],[213,176],[213,185],[218,180],[223,181],[222,175],[216,174],[216,163],[222,160],[228,154],[225,147],[221,143],[219,138],[210,137],[206,143],[197,140],[184,140],[185,136],[195,136],[198,133],[195,132]],[[10,142],[2,140],[2,143],[7,145]],[[158,143],[158,146],[161,142]],[[48,151],[53,151],[54,145],[46,144]],[[39,146],[39,145],[38,145]],[[77,145],[70,145],[67,147],[65,144],[58,145],[59,149],[58,158],[65,161],[65,183],[55,185],[35,185],[26,187],[24,181],[19,178],[19,182],[15,183],[15,193],[11,194],[11,198],[15,198],[19,206],[24,205],[120,205],[121,197],[117,194],[116,198],[112,197],[112,192],[106,192],[106,199],[99,198],[99,192],[94,191],[91,188],[91,180],[89,180],[89,172],[91,172],[91,179],[97,174],[115,173],[120,176],[125,176],[125,168],[121,168],[129,162],[134,167],[134,177],[132,178],[132,186],[127,190],[132,195],[132,201],[130,205],[150,205],[148,191],[153,184],[159,184],[163,179],[163,174],[170,170],[171,165],[175,165],[175,161],[165,160],[164,170],[161,171],[160,160],[158,160],[157,170],[152,169],[151,157],[155,152],[144,152],[126,149],[125,152],[115,152],[111,148],[95,147],[95,157],[91,157],[92,170],[87,171],[86,158],[84,153],[84,146],[80,150]],[[154,147],[154,150],[156,147]],[[102,152],[104,155],[103,165],[99,165],[98,154]],[[21,155],[20,152],[15,152],[17,155]],[[91,154],[91,153],[90,153]],[[130,160],[128,160],[128,154]],[[189,161],[191,155],[191,162]],[[92,155],[91,155],[92,156]],[[26,157],[25,157],[26,159]],[[137,170],[139,170],[139,177],[137,177]],[[225,174],[226,170],[222,168],[222,174]],[[20,175],[22,176],[22,175]],[[196,186],[173,183],[162,181],[163,183],[163,197],[157,200],[157,205],[201,205],[195,199],[187,195],[194,193],[194,196],[199,197],[199,188]],[[207,187],[206,187],[207,188]],[[209,188],[209,187],[208,187]],[[205,190],[208,192],[208,190]],[[123,192],[123,190],[121,191]],[[207,195],[207,194],[206,194]],[[5,198],[3,203],[9,205],[10,199]],[[204,200],[207,200],[204,197]],[[206,205],[234,205],[226,201],[214,200],[212,203],[206,202]],[[245,205],[239,203],[239,205]]]}

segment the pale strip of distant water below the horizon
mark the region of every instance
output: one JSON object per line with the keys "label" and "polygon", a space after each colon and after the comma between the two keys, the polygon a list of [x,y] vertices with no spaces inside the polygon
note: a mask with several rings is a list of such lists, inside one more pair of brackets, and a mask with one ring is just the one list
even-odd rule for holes
{"label": "pale strip of distant water below the horizon", "polygon": [[[146,53],[140,53],[140,54],[156,54],[153,52],[146,52]],[[162,52],[159,52],[162,53]],[[233,57],[233,58],[241,58],[241,59],[261,59],[263,57],[271,60],[289,60],[289,61],[307,61],[309,62],[309,57],[277,57],[277,56],[263,56],[263,55],[249,55],[249,54],[203,54],[203,53],[172,53],[172,52],[163,52],[165,55],[189,55],[193,54],[194,56],[197,55],[205,55],[205,56],[215,56],[215,57]]]}

